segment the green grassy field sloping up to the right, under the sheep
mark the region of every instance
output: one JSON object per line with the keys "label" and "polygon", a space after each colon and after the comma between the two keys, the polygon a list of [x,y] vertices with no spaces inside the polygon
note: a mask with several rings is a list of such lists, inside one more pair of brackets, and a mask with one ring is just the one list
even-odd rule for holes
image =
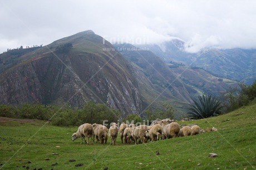
{"label": "green grassy field sloping up to the right, under the sheep", "polygon": [[[0,168],[255,169],[255,102],[219,117],[179,123],[196,123],[203,129],[215,127],[218,131],[138,145],[124,145],[119,137],[116,146],[111,146],[110,140],[106,145],[93,143],[86,146],[85,143],[80,144],[80,139],[71,141],[71,134],[77,127],[2,118]],[[156,155],[156,151],[160,154]],[[209,153],[218,156],[210,158]],[[70,159],[76,161],[69,162]],[[83,166],[75,166],[80,163]]]}

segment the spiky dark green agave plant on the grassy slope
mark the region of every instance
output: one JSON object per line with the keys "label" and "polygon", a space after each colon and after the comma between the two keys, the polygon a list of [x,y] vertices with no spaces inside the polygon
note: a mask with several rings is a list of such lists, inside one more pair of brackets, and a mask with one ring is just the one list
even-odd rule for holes
{"label": "spiky dark green agave plant on the grassy slope", "polygon": [[194,105],[189,104],[189,112],[188,115],[192,119],[201,119],[211,116],[216,116],[217,114],[221,113],[221,106],[220,101],[216,98],[211,97],[210,95],[206,96],[198,96],[199,102],[194,101]]}

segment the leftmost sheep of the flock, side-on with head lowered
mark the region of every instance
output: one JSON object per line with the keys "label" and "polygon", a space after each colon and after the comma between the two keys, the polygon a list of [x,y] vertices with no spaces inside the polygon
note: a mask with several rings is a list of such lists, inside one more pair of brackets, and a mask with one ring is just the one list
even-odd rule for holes
{"label": "leftmost sheep of the flock, side-on with head lowered", "polygon": [[78,137],[83,138],[83,136],[87,138],[87,145],[89,144],[89,138],[91,138],[92,143],[93,127],[90,123],[83,124],[83,128],[81,125],[81,128],[78,128],[77,132],[72,134],[72,141],[75,141]]}

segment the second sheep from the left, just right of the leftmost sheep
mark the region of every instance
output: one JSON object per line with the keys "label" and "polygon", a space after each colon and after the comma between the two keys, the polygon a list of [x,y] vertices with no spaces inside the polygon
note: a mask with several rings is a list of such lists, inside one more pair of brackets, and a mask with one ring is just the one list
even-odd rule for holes
{"label": "second sheep from the left, just right of the leftmost sheep", "polygon": [[[101,124],[92,124],[93,127],[93,141],[94,141],[94,136],[96,136],[96,143],[98,141],[101,141],[101,144],[104,143],[105,140],[105,144],[107,143],[107,127],[103,126]],[[99,139],[100,138],[100,139]]]}

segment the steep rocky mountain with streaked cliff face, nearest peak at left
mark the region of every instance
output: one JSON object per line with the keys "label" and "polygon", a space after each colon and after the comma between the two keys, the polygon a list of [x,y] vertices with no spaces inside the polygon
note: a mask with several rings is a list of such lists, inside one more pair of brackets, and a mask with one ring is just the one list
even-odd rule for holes
{"label": "steep rocky mountain with streaked cliff face, nearest peak at left", "polygon": [[[113,47],[102,40],[85,31],[23,54],[0,74],[0,103],[62,106],[69,102],[77,107],[92,100],[124,114],[140,113],[140,92],[131,65],[120,53],[104,51]],[[72,44],[69,51],[65,44]]]}

